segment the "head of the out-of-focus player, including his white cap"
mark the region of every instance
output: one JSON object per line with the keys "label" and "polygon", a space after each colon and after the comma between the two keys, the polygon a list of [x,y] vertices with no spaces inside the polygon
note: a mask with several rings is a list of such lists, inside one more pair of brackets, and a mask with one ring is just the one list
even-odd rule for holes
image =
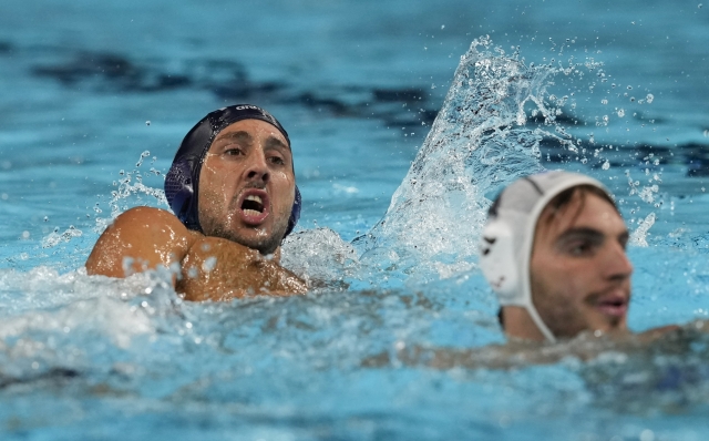
{"label": "head of the out-of-focus player, including his white cap", "polygon": [[547,172],[507,186],[480,240],[507,336],[554,342],[626,331],[628,237],[610,193],[588,176]]}

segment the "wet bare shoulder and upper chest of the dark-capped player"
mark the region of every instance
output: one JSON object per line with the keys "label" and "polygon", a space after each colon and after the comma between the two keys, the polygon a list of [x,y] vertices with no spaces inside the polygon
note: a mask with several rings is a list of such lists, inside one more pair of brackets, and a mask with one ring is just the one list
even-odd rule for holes
{"label": "wet bare shoulder and upper chest of the dark-capped player", "polygon": [[150,207],[129,209],[106,228],[86,260],[86,273],[127,277],[158,266],[179,268],[173,286],[187,300],[307,291],[306,284],[277,259],[191,232],[171,213]]}

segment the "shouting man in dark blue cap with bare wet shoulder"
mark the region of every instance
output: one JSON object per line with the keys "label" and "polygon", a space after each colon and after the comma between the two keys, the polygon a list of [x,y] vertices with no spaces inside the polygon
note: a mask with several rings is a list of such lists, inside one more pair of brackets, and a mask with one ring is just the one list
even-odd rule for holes
{"label": "shouting man in dark blue cap with bare wet shoulder", "polygon": [[202,119],[175,155],[165,196],[174,215],[135,207],[106,228],[86,260],[90,275],[164,266],[188,300],[307,290],[278,265],[300,193],[288,133],[265,110],[238,104]]}

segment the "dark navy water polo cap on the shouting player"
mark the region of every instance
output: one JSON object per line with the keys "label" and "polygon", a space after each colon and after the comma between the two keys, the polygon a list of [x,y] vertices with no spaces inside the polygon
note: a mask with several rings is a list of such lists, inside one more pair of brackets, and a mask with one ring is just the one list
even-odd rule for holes
{"label": "dark navy water polo cap on the shouting player", "polygon": [[[173,165],[165,176],[165,197],[173,213],[189,229],[202,232],[197,212],[199,173],[212,142],[226,126],[242,120],[260,120],[271,124],[286,137],[288,133],[270,113],[251,104],[235,104],[214,111],[203,117],[182,141]],[[300,191],[296,185],[296,198],[290,211],[286,236],[292,232],[300,218]],[[285,237],[285,236],[284,236]]]}

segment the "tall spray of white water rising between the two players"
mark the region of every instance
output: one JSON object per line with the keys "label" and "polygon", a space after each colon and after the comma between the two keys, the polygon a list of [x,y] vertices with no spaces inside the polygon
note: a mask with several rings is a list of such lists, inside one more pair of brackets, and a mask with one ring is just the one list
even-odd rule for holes
{"label": "tall spray of white water rising between the two players", "polygon": [[[576,150],[572,136],[555,124],[566,100],[547,92],[562,71],[526,65],[487,37],[474,40],[386,216],[354,242],[361,259],[381,261],[386,248],[389,260],[404,271],[431,260],[474,260],[489,197],[516,177],[543,170],[543,139]],[[527,125],[527,112],[543,125]]]}

